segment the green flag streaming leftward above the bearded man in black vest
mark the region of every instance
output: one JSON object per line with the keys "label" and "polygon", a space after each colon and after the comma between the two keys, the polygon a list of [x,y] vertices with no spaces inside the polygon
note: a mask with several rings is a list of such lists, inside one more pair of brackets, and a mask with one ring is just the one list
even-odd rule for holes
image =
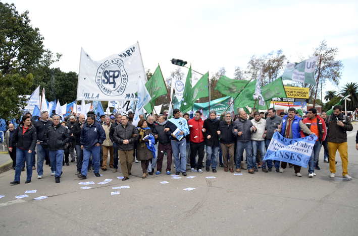
{"label": "green flag streaming leftward above the bearded man in black vest", "polygon": [[248,84],[248,81],[233,80],[227,76],[221,76],[216,84],[215,90],[220,93],[236,98],[240,91]]}

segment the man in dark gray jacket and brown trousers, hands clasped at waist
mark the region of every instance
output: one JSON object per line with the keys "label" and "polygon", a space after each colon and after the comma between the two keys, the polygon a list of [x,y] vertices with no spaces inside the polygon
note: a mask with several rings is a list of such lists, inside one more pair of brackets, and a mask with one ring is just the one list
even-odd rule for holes
{"label": "man in dark gray jacket and brown trousers, hands clasped at waist", "polygon": [[[128,116],[123,115],[121,123],[116,126],[114,132],[114,141],[117,143],[119,162],[123,179],[128,180],[132,170],[134,142],[138,140],[138,130],[128,123]],[[116,151],[116,150],[115,150]]]}

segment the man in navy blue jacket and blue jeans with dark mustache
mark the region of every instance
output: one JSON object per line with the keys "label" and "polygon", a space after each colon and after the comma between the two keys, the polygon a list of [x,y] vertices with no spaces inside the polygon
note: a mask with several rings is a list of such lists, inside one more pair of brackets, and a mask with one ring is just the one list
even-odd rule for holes
{"label": "man in navy blue jacket and blue jeans with dark mustache", "polygon": [[87,179],[87,168],[89,158],[92,154],[92,166],[94,167],[94,175],[100,177],[99,175],[99,151],[100,144],[103,143],[106,139],[106,133],[102,125],[98,122],[95,122],[95,117],[93,114],[88,114],[87,124],[82,127],[80,144],[81,149],[83,150],[83,163],[81,174],[78,175],[78,178]]}

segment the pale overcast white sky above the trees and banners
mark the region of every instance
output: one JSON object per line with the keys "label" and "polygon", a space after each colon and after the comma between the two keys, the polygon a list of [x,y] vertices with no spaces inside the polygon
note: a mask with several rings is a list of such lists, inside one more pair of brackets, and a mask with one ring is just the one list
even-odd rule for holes
{"label": "pale overcast white sky above the trees and banners", "polygon": [[[45,48],[63,54],[52,66],[78,73],[81,47],[100,60],[139,41],[145,68],[164,77],[180,58],[205,73],[246,68],[249,57],[282,49],[295,61],[323,39],[339,48],[340,85],[356,82],[358,1],[2,1],[28,10]],[[187,69],[183,68],[184,73]],[[327,84],[326,90],[338,90]]]}

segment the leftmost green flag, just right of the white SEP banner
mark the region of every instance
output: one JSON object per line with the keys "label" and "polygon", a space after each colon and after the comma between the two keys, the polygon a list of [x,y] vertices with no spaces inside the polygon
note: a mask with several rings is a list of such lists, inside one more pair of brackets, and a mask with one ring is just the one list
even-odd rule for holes
{"label": "leftmost green flag, just right of the white SEP banner", "polygon": [[[154,71],[154,74],[151,76],[149,81],[145,83],[145,88],[148,90],[148,93],[151,97],[151,103],[153,103],[153,105],[154,105],[154,101],[159,96],[168,93],[159,65],[156,71]],[[147,113],[151,113],[154,109],[151,103],[149,102],[147,105],[144,106],[144,109],[147,111]]]}

